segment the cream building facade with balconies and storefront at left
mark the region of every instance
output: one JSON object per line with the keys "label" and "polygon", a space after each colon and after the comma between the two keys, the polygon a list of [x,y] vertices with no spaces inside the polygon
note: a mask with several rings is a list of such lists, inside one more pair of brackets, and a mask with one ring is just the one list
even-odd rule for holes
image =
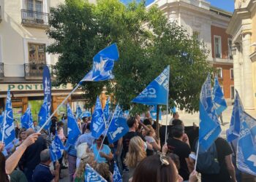
{"label": "cream building facade with balconies and storefront at left", "polygon": [[[56,7],[64,0],[1,0],[0,1],[0,113],[5,106],[7,90],[12,95],[15,119],[20,119],[31,105],[33,118],[43,101],[42,69],[48,66],[53,73],[53,65],[58,55],[50,55],[46,47],[52,43],[45,33],[48,28],[50,7]],[[54,75],[52,74],[52,80]],[[72,85],[52,87],[52,110],[56,110]],[[80,92],[75,92],[68,102],[75,108],[83,105]],[[65,113],[66,106],[58,111]]]}

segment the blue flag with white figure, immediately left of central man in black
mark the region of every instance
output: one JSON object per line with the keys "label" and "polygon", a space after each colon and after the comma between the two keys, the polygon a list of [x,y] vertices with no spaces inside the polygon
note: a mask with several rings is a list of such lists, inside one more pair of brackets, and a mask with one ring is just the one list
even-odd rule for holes
{"label": "blue flag with white figure, immediately left of central man in black", "polygon": [[129,127],[127,126],[127,119],[124,116],[120,106],[117,105],[113,117],[110,121],[110,126],[108,128],[109,143],[118,141],[119,138],[123,137],[128,131]]}

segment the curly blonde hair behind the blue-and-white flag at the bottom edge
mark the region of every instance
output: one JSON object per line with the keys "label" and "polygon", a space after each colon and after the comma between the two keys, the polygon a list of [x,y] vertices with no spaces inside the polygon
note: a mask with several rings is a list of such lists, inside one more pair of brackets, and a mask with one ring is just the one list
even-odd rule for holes
{"label": "curly blonde hair behind the blue-and-white flag at the bottom edge", "polygon": [[84,181],[84,175],[86,173],[86,164],[89,164],[91,167],[94,168],[94,153],[89,152],[80,160],[79,167],[75,171],[75,182]]}

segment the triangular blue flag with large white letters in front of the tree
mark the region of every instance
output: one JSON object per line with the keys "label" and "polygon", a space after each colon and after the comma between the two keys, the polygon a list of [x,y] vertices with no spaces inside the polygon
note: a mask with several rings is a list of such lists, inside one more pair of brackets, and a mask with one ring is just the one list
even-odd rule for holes
{"label": "triangular blue flag with large white letters in front of the tree", "polygon": [[146,105],[166,105],[168,100],[169,76],[170,66],[167,66],[132,102]]}

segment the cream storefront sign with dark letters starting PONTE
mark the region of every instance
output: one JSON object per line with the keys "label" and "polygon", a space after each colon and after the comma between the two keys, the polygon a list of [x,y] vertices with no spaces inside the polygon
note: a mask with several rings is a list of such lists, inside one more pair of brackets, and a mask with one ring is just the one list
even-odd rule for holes
{"label": "cream storefront sign with dark letters starting PONTE", "polygon": [[[72,90],[72,84],[61,84],[58,87],[53,87],[52,90]],[[42,91],[42,84],[0,84],[1,91]]]}

